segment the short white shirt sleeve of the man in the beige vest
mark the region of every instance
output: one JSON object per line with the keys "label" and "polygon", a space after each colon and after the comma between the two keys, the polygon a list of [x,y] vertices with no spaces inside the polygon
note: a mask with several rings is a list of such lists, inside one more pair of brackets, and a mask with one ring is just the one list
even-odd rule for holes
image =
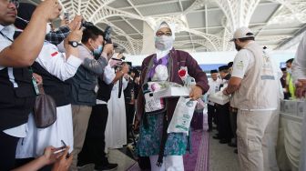
{"label": "short white shirt sleeve of the man in the beige vest", "polygon": [[254,65],[254,56],[249,50],[241,49],[240,53],[235,56],[231,76],[243,78],[250,70],[250,66]]}

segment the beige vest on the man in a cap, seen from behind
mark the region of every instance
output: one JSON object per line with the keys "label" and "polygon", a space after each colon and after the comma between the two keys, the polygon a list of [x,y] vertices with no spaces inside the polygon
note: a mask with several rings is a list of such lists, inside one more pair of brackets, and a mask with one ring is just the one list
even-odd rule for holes
{"label": "beige vest on the man in a cap, seen from behind", "polygon": [[260,45],[251,42],[244,47],[254,57],[250,67],[241,80],[240,88],[233,95],[233,106],[239,109],[276,109],[278,107],[278,81],[273,75],[270,57]]}

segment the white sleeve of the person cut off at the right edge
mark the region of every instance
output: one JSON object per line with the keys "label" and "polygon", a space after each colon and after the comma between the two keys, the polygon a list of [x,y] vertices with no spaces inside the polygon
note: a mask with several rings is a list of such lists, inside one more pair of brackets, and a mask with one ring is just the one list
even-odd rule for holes
{"label": "white sleeve of the person cut off at the right edge", "polygon": [[306,34],[302,37],[295,54],[292,63],[292,76],[294,80],[306,79]]}

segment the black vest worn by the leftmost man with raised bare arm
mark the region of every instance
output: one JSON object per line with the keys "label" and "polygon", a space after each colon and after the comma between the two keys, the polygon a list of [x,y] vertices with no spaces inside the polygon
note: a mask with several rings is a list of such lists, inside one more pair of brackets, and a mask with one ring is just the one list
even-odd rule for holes
{"label": "black vest worn by the leftmost man with raised bare arm", "polygon": [[27,68],[5,67],[0,70],[0,131],[27,122],[36,93]]}

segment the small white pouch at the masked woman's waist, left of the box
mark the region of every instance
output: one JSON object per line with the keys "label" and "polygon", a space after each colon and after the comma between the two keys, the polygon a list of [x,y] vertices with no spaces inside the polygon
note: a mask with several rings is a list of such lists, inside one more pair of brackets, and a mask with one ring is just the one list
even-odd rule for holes
{"label": "small white pouch at the masked woman's waist, left of the box", "polygon": [[146,106],[145,106],[146,112],[154,112],[164,108],[164,103],[162,99],[154,98],[153,93],[147,93],[144,96],[146,99]]}

